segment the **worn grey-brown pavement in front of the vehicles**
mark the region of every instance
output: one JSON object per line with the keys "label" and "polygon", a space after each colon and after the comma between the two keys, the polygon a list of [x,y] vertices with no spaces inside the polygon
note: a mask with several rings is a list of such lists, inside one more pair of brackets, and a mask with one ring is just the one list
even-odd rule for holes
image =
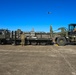
{"label": "worn grey-brown pavement in front of the vehicles", "polygon": [[0,45],[0,75],[76,75],[76,45]]}

